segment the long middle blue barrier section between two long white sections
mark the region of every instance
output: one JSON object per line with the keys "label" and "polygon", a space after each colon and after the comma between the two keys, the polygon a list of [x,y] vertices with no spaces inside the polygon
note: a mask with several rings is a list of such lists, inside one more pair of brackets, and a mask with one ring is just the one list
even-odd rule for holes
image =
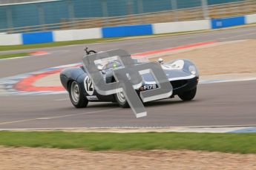
{"label": "long middle blue barrier section between two long white sections", "polygon": [[102,27],[103,38],[153,34],[151,24]]}

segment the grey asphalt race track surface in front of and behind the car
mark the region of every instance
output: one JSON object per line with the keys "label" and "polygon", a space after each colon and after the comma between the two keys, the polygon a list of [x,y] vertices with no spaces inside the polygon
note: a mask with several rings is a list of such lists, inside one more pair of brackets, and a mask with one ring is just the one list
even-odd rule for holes
{"label": "grey asphalt race track surface in front of and behind the car", "polygon": [[[256,27],[89,44],[88,47],[98,51],[121,48],[136,53],[202,41],[249,38],[256,38]],[[50,55],[0,61],[0,78],[80,62],[84,46],[45,48],[41,50]],[[18,51],[30,50],[15,52]],[[115,103],[89,103],[88,108],[75,109],[68,95],[0,96],[0,129],[252,126],[256,125],[255,87],[256,81],[200,84],[194,101],[173,98],[146,103],[148,116],[145,118],[135,118],[131,109],[121,109]]]}

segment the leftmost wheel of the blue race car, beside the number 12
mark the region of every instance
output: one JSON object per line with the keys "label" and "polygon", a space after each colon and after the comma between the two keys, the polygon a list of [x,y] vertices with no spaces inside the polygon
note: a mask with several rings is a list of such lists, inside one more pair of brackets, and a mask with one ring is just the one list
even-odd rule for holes
{"label": "leftmost wheel of the blue race car, beside the number 12", "polygon": [[88,105],[87,98],[82,94],[82,87],[76,81],[70,83],[68,93],[71,103],[76,108],[84,108]]}

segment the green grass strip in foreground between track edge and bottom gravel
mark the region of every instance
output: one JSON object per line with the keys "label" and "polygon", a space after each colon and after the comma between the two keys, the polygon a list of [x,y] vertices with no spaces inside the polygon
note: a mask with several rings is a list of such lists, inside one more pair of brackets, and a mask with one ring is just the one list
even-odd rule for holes
{"label": "green grass strip in foreground between track edge and bottom gravel", "polygon": [[256,134],[0,132],[0,145],[89,151],[188,149],[247,154],[256,153]]}

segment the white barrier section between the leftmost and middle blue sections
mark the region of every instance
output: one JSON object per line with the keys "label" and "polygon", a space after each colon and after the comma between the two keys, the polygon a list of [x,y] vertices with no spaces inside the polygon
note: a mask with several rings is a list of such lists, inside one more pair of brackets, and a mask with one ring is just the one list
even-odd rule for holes
{"label": "white barrier section between the leftmost and middle blue sections", "polygon": [[53,41],[73,41],[102,38],[101,28],[53,31]]}

